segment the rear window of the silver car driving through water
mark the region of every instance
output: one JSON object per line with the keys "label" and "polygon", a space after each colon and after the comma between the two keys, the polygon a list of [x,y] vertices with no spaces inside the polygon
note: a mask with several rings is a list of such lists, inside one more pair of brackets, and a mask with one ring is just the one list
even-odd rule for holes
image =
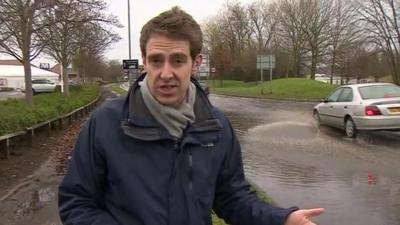
{"label": "rear window of the silver car driving through water", "polygon": [[359,87],[358,91],[364,100],[400,97],[400,87],[396,85],[365,86]]}

